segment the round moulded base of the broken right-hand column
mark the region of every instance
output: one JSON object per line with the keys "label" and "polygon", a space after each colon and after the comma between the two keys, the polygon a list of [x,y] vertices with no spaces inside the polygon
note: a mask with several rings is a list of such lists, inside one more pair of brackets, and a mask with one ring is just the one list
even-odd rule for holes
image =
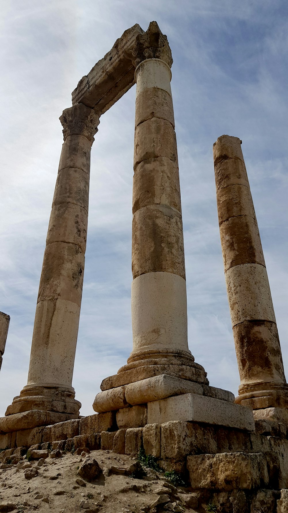
{"label": "round moulded base of the broken right-hand column", "polygon": [[235,403],[253,410],[265,408],[288,408],[288,385],[277,382],[242,384]]}

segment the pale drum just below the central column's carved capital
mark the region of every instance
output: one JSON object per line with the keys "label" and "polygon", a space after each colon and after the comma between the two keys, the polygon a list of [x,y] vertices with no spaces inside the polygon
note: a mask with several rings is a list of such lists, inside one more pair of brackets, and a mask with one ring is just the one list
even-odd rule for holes
{"label": "pale drum just below the central column's carved capital", "polygon": [[168,64],[160,59],[147,59],[142,61],[135,69],[136,98],[145,89],[157,87],[167,91],[170,95],[172,73]]}

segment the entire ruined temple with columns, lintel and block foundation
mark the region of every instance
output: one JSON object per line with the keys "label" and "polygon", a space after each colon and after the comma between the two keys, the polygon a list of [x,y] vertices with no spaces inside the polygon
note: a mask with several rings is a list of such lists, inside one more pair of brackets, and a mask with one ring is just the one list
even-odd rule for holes
{"label": "entire ruined temple with columns, lintel and block foundation", "polygon": [[[239,396],[210,386],[188,348],[172,62],[156,22],[146,32],[134,25],[80,80],[60,116],[64,144],[28,383],[0,419],[0,458],[19,447],[101,448],[133,457],[142,448],[162,468],[182,473],[198,502],[210,498],[232,513],[287,512],[287,384],[241,141],[229,135],[213,152]],[[95,415],[79,417],[72,374],[90,151],[100,116],[134,83],[133,347],[127,365],[102,381]],[[7,318],[1,314],[1,361]]]}

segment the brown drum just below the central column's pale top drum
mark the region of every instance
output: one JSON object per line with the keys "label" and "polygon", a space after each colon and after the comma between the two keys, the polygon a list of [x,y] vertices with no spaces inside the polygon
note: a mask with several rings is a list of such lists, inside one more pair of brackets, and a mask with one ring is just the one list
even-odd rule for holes
{"label": "brown drum just below the central column's pale top drum", "polygon": [[171,94],[159,87],[149,87],[136,96],[135,127],[153,117],[167,120],[175,128]]}

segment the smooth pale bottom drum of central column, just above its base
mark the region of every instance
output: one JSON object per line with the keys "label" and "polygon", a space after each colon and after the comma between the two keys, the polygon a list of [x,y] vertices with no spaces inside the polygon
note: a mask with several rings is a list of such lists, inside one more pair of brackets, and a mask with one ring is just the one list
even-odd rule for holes
{"label": "smooth pale bottom drum of central column, just above its base", "polygon": [[[186,281],[170,272],[149,272],[131,287],[133,352],[188,351]],[[132,352],[132,353],[133,353]]]}

